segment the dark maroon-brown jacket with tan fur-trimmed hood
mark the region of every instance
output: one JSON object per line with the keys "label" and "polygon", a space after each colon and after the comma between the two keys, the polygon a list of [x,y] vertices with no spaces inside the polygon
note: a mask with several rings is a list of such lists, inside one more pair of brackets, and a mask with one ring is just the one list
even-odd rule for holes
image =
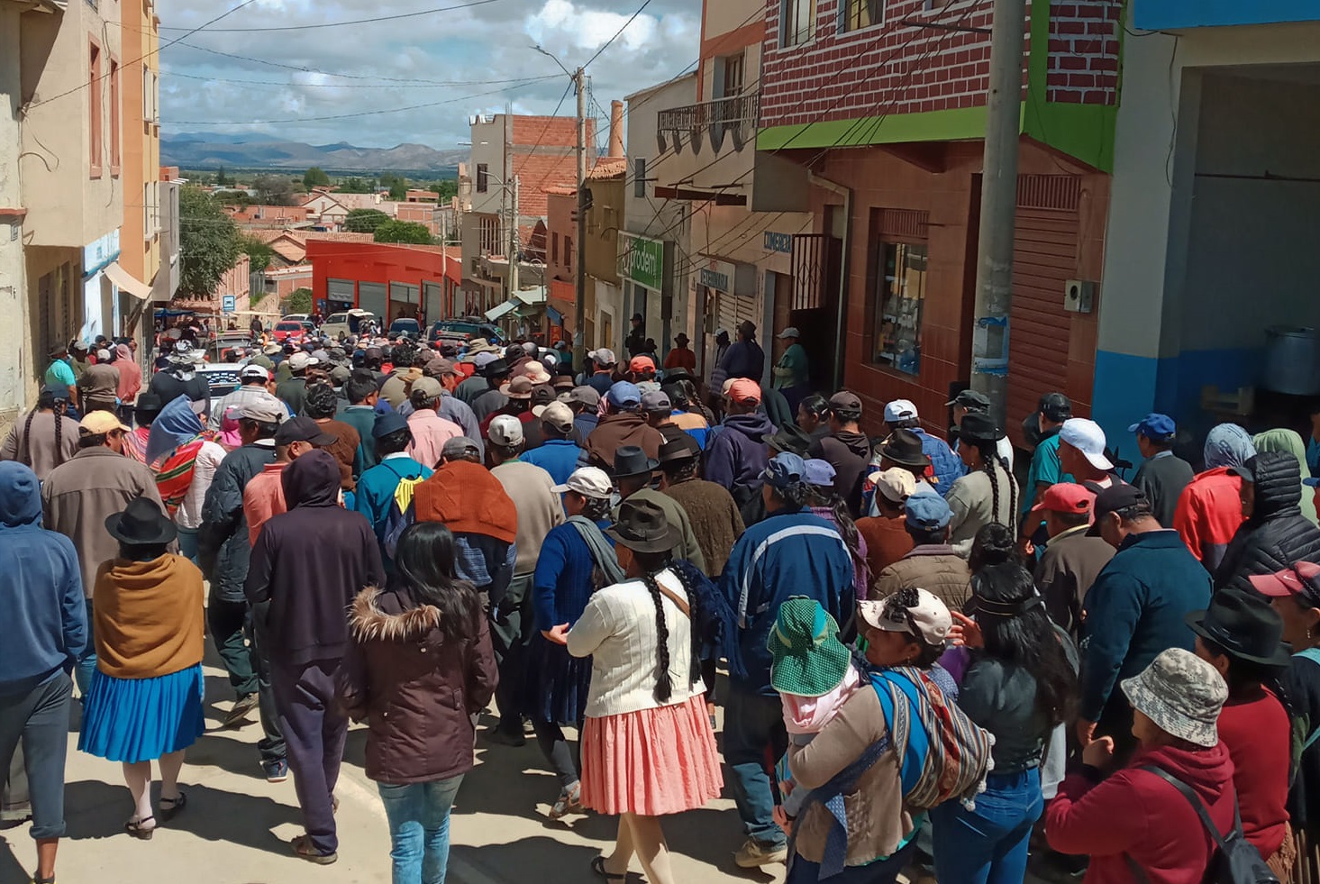
{"label": "dark maroon-brown jacket with tan fur-trimmed hood", "polygon": [[495,695],[498,674],[486,617],[470,639],[449,641],[440,608],[368,587],[348,611],[352,641],[337,674],[339,697],[366,720],[367,776],[405,785],[473,768],[473,718]]}

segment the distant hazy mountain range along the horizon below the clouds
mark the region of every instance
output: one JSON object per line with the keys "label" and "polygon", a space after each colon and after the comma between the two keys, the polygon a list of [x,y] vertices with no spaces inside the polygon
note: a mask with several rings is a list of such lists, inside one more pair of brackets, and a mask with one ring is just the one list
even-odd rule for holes
{"label": "distant hazy mountain range along the horizon below the clouds", "polygon": [[466,150],[434,150],[422,144],[359,148],[304,144],[265,133],[182,133],[161,136],[161,162],[185,169],[289,169],[321,166],[326,172],[454,172]]}

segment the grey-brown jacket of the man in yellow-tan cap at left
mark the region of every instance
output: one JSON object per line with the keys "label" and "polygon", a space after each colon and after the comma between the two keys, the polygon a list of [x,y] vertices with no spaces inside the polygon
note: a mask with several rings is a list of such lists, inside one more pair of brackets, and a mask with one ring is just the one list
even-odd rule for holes
{"label": "grey-brown jacket of the man in yellow-tan cap at left", "polygon": [[165,509],[156,474],[104,446],[83,449],[41,484],[42,522],[74,542],[88,599],[96,587],[96,569],[119,555],[119,541],[106,530],[106,519],[123,512],[133,497],[154,500]]}

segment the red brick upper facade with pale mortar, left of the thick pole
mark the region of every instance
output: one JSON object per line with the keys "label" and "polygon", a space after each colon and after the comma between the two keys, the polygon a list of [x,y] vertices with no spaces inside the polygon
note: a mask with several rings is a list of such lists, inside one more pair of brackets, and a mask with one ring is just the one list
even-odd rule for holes
{"label": "red brick upper facade with pale mortar, left of the thick pole", "polygon": [[763,127],[985,104],[989,33],[900,22],[989,28],[993,0],[958,0],[944,13],[927,11],[925,0],[891,0],[886,24],[851,33],[838,32],[842,3],[820,0],[816,40],[781,46],[781,3],[767,0],[760,77]]}

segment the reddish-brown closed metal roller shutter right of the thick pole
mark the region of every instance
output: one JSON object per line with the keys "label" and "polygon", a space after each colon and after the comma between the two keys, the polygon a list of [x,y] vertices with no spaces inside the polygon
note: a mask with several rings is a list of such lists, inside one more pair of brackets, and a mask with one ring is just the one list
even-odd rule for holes
{"label": "reddish-brown closed metal roller shutter right of the thick pole", "polygon": [[[1014,235],[1012,313],[1008,323],[1007,425],[1020,445],[1020,422],[1053,391],[1073,398],[1078,416],[1089,412],[1090,389],[1069,389],[1072,317],[1064,310],[1064,282],[1077,274],[1078,202],[1074,175],[1022,175]],[[1094,348],[1080,355],[1094,364]],[[1089,381],[1093,372],[1086,371]],[[1081,402],[1078,402],[1081,397]]]}

